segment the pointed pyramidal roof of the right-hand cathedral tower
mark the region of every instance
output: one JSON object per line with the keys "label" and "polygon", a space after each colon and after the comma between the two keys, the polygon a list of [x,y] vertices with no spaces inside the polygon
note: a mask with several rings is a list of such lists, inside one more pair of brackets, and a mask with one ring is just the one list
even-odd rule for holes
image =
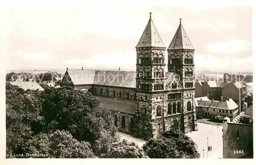
{"label": "pointed pyramidal roof of the right-hand cathedral tower", "polygon": [[170,45],[167,50],[172,49],[192,49],[195,50],[192,46],[182,24],[181,24],[181,18],[180,18],[180,24],[179,27],[174,35],[174,38],[172,42],[170,42]]}

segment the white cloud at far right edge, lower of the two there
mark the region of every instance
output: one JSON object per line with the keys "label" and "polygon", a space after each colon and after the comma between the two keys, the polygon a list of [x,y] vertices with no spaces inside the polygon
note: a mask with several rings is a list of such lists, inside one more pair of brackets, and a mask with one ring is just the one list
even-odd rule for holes
{"label": "white cloud at far right edge, lower of the two there", "polygon": [[226,42],[216,42],[205,46],[209,52],[236,52],[249,49],[251,44],[244,40],[229,40]]}

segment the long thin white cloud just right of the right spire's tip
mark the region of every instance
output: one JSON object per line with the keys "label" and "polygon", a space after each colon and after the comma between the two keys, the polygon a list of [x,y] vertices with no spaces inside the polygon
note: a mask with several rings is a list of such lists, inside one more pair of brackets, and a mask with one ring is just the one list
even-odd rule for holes
{"label": "long thin white cloud just right of the right spire's tip", "polygon": [[209,21],[189,21],[186,23],[189,28],[217,29],[217,30],[237,30],[237,26],[228,22],[211,23]]}

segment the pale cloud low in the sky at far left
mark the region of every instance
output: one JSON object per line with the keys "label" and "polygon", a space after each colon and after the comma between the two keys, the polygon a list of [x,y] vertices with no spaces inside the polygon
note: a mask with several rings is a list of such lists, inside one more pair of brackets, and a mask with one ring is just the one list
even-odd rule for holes
{"label": "pale cloud low in the sky at far left", "polygon": [[41,53],[41,52],[33,52],[33,53],[27,53],[23,50],[18,50],[16,53],[17,57],[20,57],[24,60],[30,60],[30,61],[51,61],[52,58],[49,54]]}

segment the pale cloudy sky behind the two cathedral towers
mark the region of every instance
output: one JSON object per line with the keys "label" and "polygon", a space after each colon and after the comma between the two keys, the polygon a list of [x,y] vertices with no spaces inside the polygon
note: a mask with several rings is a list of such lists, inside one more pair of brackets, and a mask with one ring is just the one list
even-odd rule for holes
{"label": "pale cloudy sky behind the two cathedral towers", "polygon": [[251,7],[145,4],[8,4],[1,27],[6,69],[135,70],[135,46],[152,12],[166,47],[182,18],[195,70],[252,70]]}

